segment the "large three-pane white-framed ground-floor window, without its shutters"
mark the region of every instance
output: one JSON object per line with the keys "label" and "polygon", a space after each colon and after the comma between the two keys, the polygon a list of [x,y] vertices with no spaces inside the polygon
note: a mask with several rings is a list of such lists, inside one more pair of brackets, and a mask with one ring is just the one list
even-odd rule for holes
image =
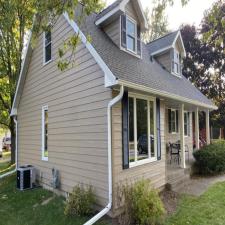
{"label": "large three-pane white-framed ground-floor window, without its shutters", "polygon": [[129,96],[129,162],[131,166],[156,160],[155,100]]}

